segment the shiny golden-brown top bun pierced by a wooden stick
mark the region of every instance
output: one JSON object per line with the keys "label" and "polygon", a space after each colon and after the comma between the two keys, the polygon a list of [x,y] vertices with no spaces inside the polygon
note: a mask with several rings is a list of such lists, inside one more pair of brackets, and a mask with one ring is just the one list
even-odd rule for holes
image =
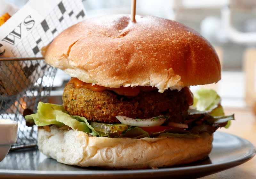
{"label": "shiny golden-brown top bun pierced by a wooden stick", "polygon": [[101,86],[155,86],[159,92],[220,80],[220,61],[198,32],[164,18],[88,18],[61,32],[45,61]]}

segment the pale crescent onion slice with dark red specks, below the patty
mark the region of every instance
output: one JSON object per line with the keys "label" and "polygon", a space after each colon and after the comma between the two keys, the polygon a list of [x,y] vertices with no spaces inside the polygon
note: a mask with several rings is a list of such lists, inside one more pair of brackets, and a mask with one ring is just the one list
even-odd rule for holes
{"label": "pale crescent onion slice with dark red specks, below the patty", "polygon": [[148,119],[134,119],[126,116],[116,116],[116,118],[125,125],[138,126],[138,127],[155,127],[164,124],[168,116],[157,116]]}

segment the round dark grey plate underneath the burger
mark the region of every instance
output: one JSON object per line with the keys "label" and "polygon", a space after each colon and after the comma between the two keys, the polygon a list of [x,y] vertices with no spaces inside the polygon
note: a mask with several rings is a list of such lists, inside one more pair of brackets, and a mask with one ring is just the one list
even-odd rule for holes
{"label": "round dark grey plate underneath the burger", "polygon": [[11,151],[0,162],[0,178],[196,178],[240,165],[255,155],[255,147],[245,139],[224,132],[215,132],[209,158],[188,165],[142,170],[107,170],[81,168],[58,163],[37,148]]}

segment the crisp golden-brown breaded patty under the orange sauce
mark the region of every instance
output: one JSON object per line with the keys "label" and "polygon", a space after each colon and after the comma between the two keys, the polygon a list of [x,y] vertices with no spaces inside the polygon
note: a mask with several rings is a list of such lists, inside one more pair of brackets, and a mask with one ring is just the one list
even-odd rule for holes
{"label": "crisp golden-brown breaded patty under the orange sauce", "polygon": [[173,115],[188,110],[185,90],[157,90],[143,92],[135,97],[120,96],[113,91],[93,91],[76,88],[68,82],[64,88],[63,105],[70,115],[103,123],[120,123],[116,116],[130,118],[152,118],[159,115]]}

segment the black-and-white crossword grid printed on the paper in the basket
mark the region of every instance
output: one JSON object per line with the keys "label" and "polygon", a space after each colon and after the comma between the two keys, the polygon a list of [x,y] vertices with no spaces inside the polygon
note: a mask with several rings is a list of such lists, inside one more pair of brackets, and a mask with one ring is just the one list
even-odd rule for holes
{"label": "black-and-white crossword grid printed on the paper in the basket", "polygon": [[[40,49],[48,45],[64,29],[83,20],[85,12],[73,1],[61,1],[47,17],[12,48],[14,57],[40,57]],[[65,19],[65,20],[64,20]]]}

